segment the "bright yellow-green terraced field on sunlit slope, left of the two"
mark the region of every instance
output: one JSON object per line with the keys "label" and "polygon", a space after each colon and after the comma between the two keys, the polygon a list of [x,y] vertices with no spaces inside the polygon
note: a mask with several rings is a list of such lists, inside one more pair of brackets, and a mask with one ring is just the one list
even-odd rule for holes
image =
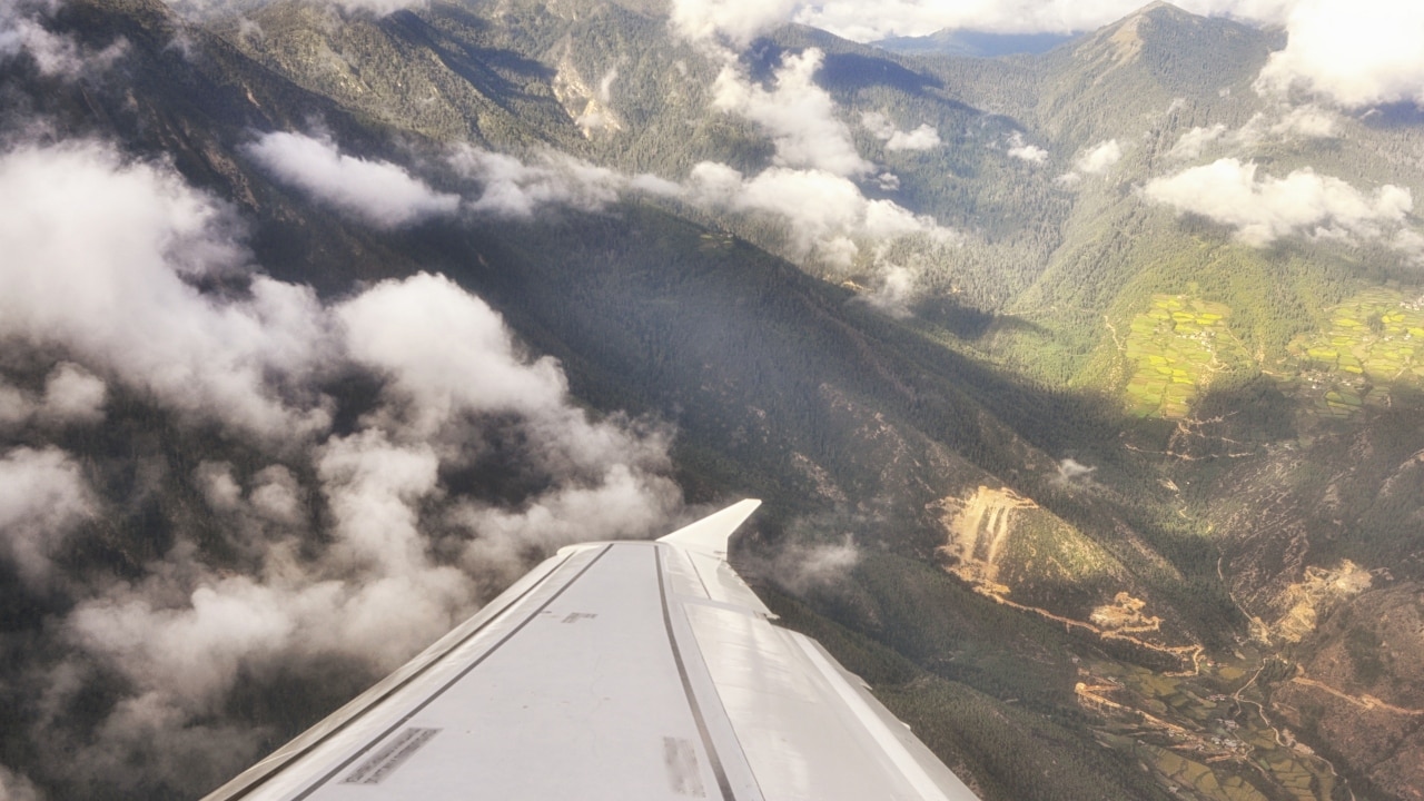
{"label": "bright yellow-green terraced field on sunlit slope, left of the two", "polygon": [[1132,365],[1126,392],[1134,415],[1182,419],[1213,373],[1249,358],[1226,328],[1230,314],[1225,304],[1189,295],[1152,295],[1122,346]]}

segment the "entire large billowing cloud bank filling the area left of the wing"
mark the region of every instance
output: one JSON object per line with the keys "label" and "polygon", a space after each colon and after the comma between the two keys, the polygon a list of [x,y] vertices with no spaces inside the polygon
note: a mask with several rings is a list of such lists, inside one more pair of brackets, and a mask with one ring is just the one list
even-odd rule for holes
{"label": "entire large billowing cloud bank filling the area left of the wing", "polygon": [[[662,533],[681,509],[665,426],[591,416],[446,278],[319,301],[255,271],[232,210],[94,141],[4,153],[0,197],[27,198],[0,215],[0,564],[68,609],[26,657],[24,720],[73,770],[30,778],[197,795],[259,755],[226,717],[239,684],[332,660],[379,676],[531,559]],[[211,278],[222,292],[195,286]],[[372,392],[335,389],[352,379]],[[121,438],[135,408],[201,462],[122,440],[118,475],[140,479],[114,483],[108,439],[68,436]],[[184,500],[144,517],[142,546],[95,522],[155,497]],[[94,547],[165,542],[122,582],[75,572]]]}

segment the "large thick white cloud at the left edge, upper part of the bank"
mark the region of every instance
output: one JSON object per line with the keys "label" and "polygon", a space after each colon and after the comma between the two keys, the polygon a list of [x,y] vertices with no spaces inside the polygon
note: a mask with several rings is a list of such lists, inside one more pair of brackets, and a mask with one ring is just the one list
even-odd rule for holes
{"label": "large thick white cloud at the left edge, upper part of the bank", "polygon": [[[218,304],[185,281],[248,269],[225,205],[93,141],[0,155],[0,198],[11,198],[0,201],[0,338],[64,348],[195,418],[271,436],[325,428],[316,399],[271,381],[323,361],[316,296],[256,277]],[[97,402],[93,381],[54,381],[47,405]]]}

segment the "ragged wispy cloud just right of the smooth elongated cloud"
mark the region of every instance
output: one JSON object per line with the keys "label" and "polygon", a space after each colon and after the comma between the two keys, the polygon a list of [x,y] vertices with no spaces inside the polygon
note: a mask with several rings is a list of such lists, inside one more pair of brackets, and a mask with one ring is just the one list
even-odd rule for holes
{"label": "ragged wispy cloud just right of the smooth elongated cloud", "polygon": [[654,187],[651,177],[639,182],[554,151],[535,154],[533,162],[525,164],[513,155],[461,144],[447,161],[457,174],[481,187],[480,197],[470,201],[468,208],[494,217],[528,219],[547,205],[598,211],[629,187]]}

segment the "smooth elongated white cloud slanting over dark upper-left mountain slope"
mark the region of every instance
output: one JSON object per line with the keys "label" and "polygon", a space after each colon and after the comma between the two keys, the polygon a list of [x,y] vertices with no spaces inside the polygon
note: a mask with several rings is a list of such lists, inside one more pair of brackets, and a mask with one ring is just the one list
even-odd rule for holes
{"label": "smooth elongated white cloud slanting over dark upper-left mountain slope", "polygon": [[437,192],[389,161],[346,155],[330,140],[271,133],[242,148],[278,181],[376,228],[451,215],[460,197]]}

